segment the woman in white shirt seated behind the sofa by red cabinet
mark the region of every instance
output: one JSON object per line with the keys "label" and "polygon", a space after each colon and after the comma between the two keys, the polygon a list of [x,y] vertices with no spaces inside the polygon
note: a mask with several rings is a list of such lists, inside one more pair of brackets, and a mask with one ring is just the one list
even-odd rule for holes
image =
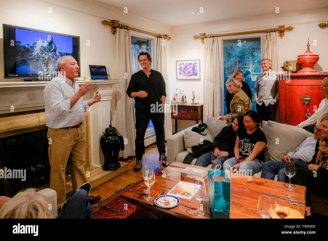
{"label": "woman in white shirt seated behind the sofa by red cabinet", "polygon": [[328,77],[322,80],[320,86],[320,93],[323,94],[326,98],[321,101],[317,111],[315,111],[310,118],[299,123],[297,127],[303,128],[306,131],[314,133],[315,125],[320,123],[322,117],[328,114]]}

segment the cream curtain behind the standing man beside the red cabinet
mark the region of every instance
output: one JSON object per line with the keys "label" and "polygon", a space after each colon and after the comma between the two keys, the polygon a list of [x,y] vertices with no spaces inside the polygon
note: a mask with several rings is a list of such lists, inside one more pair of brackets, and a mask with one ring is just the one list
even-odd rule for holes
{"label": "cream curtain behind the standing man beside the red cabinet", "polygon": [[[272,60],[272,70],[280,70],[278,64],[278,51],[277,51],[277,32],[265,33],[261,37],[262,59],[267,58]],[[276,122],[279,122],[279,102],[276,105]]]}

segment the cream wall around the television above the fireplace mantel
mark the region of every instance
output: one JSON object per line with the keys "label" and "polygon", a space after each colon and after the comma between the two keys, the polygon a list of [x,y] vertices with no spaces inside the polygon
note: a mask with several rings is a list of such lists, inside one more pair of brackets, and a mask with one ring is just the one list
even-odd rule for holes
{"label": "cream wall around the television above the fireplace mantel", "polygon": [[[49,13],[51,8],[51,13]],[[47,30],[80,36],[81,76],[89,71],[89,64],[106,65],[112,79],[116,79],[116,34],[112,34],[109,25],[102,20],[117,19],[130,27],[170,34],[171,27],[125,14],[122,10],[78,0],[11,0],[2,1],[0,7],[0,82],[23,81],[22,79],[4,79],[3,31],[2,24]],[[90,40],[90,46],[86,41]],[[170,40],[172,41],[172,40]],[[170,41],[166,41],[170,45]],[[111,103],[112,119],[115,116],[115,94]],[[115,123],[112,122],[114,125]]]}

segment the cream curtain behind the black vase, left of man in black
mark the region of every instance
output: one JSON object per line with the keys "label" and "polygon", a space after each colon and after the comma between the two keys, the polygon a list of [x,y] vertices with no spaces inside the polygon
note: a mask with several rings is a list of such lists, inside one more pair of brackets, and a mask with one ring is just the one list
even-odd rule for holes
{"label": "cream curtain behind the black vase, left of man in black", "polygon": [[129,30],[116,29],[116,79],[115,85],[116,112],[115,128],[123,138],[127,138],[127,145],[119,156],[127,158],[135,155],[135,113],[133,98],[126,94],[132,75],[131,35]]}

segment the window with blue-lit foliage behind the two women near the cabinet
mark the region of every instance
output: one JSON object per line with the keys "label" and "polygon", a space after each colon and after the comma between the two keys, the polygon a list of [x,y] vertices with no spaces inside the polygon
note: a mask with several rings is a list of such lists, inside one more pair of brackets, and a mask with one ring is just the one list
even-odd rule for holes
{"label": "window with blue-lit foliage behind the two women near the cabinet", "polygon": [[[261,73],[260,37],[223,40],[223,66],[224,94],[221,97],[222,101],[224,101],[224,97],[227,93],[225,82],[231,78],[235,70],[243,71],[245,82],[249,84],[252,93],[254,93],[256,76]],[[254,103],[252,104],[252,109],[256,111],[256,105]],[[225,102],[224,113],[227,114]]]}

